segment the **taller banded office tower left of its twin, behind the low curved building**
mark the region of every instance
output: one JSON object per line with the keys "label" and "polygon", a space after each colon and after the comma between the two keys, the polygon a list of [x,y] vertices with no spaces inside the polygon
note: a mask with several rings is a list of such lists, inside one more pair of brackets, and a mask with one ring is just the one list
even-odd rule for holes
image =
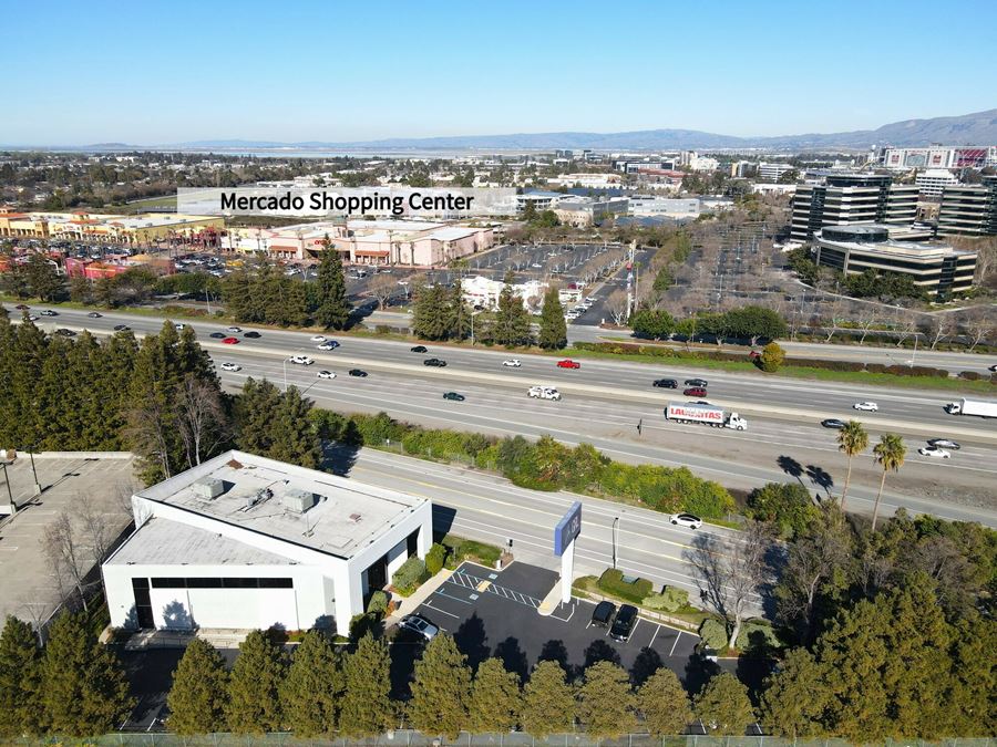
{"label": "taller banded office tower left of its twin, behind the low curved building", "polygon": [[877,174],[829,175],[824,184],[796,188],[790,235],[810,240],[824,226],[909,225],[917,214],[917,187],[895,185]]}

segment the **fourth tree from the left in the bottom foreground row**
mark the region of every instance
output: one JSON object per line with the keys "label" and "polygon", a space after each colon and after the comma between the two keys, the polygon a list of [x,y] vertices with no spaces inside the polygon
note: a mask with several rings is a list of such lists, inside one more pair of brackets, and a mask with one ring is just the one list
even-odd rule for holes
{"label": "fourth tree from the left in the bottom foreground row", "polygon": [[287,672],[284,650],[264,631],[239,644],[228,678],[225,719],[234,734],[266,734],[280,728],[279,687]]}

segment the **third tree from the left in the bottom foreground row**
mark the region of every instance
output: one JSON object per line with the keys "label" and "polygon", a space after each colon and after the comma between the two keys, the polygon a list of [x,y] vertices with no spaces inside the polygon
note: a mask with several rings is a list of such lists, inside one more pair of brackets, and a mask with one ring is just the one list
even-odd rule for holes
{"label": "third tree from the left in the bottom foreground row", "polygon": [[204,639],[192,640],[173,673],[166,697],[169,730],[181,736],[223,732],[227,687],[222,654]]}

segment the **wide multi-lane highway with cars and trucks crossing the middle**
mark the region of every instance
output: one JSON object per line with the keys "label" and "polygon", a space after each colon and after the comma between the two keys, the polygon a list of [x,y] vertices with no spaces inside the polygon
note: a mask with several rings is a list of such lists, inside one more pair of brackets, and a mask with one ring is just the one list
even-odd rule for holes
{"label": "wide multi-lane highway with cars and trucks crossing the middle", "polygon": [[[119,323],[129,324],[136,333],[162,326],[160,319],[114,313],[88,319],[85,312],[64,310],[56,318],[41,318],[39,323],[49,329],[86,326],[95,332],[110,331]],[[945,395],[923,397],[912,391],[877,388],[875,394],[863,393],[860,397],[843,384],[759,380],[696,370],[662,371],[658,366],[603,361],[585,361],[580,370],[564,371],[545,356],[520,356],[522,369],[504,369],[501,361],[506,356],[502,352],[438,346],[430,346],[430,353],[443,357],[449,365],[430,369],[421,365],[424,356],[409,352],[405,343],[340,336],[340,349],[322,353],[315,350],[308,332],[264,330],[258,340],[224,345],[207,336],[223,329],[217,324],[198,322],[194,328],[216,362],[232,361],[243,366],[240,372],[222,372],[223,382],[233,388],[248,375],[266,376],[277,383],[286,376],[289,384],[305,390],[319,406],[342,412],[384,409],[400,419],[494,435],[535,437],[549,433],[567,444],[593,443],[621,461],[686,465],[703,477],[742,490],[795,477],[812,486],[814,492],[840,492],[845,460],[836,449],[835,433],[821,428],[819,421],[825,416],[859,416],[870,427],[873,442],[886,428],[897,429],[908,439],[907,463],[898,475],[887,479],[882,512],[904,506],[912,511],[997,526],[993,487],[997,484],[995,424],[945,414],[941,409],[948,398]],[[285,363],[288,355],[300,353],[312,355],[316,365]],[[346,370],[352,366],[363,367],[371,375],[346,376]],[[339,376],[317,380],[316,372],[321,369],[336,371]],[[666,374],[707,377],[710,402],[748,405],[742,413],[751,419],[750,429],[708,430],[668,423],[661,416],[662,405],[681,397],[650,387],[651,378]],[[552,403],[527,398],[525,390],[536,383],[558,386],[564,400]],[[748,388],[751,402],[743,396]],[[467,400],[444,402],[444,391],[458,391]],[[857,400],[873,397],[880,404],[880,413],[851,409]],[[607,407],[607,401],[613,405]],[[759,402],[765,406],[759,407]],[[916,454],[917,442],[927,435],[957,437],[963,449],[955,452],[950,460],[929,460]],[[867,454],[856,457],[850,509],[871,510],[880,476]],[[952,500],[954,497],[956,500]]]}

